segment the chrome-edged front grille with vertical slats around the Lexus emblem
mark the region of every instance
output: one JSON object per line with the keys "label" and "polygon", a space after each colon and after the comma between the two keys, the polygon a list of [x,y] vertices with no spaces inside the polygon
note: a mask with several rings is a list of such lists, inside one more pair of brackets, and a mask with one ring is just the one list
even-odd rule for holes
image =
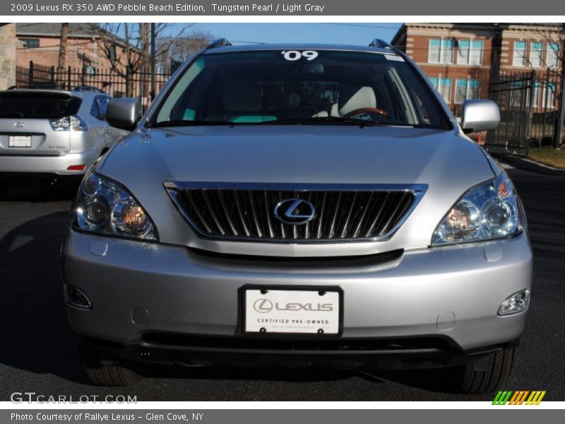
{"label": "chrome-edged front grille with vertical slats around the Lexus emblem", "polygon": [[[385,238],[398,228],[426,189],[282,185],[165,184],[179,211],[203,237],[265,242]],[[280,222],[275,207],[289,199],[308,201],[314,206],[314,218],[299,224]]]}

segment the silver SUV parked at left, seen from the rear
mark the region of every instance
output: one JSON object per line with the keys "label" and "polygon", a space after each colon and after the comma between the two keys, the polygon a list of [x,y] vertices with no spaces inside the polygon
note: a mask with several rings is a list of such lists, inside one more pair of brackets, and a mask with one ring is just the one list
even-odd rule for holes
{"label": "silver SUV parked at left, seen from the rear", "polygon": [[127,134],[106,121],[111,99],[86,86],[0,91],[0,196],[19,179],[82,178]]}

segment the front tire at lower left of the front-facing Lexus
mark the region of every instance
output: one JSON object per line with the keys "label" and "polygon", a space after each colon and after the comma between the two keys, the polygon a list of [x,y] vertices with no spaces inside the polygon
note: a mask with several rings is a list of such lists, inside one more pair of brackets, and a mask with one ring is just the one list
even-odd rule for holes
{"label": "front tire at lower left of the front-facing Lexus", "polygon": [[100,351],[94,346],[79,346],[81,361],[88,379],[97,386],[129,386],[141,380],[133,363],[117,360],[105,363]]}

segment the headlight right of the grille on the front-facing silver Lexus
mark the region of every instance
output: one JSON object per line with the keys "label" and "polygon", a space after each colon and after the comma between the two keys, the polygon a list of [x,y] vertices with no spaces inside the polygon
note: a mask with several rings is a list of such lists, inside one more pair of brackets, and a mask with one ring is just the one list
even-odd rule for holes
{"label": "headlight right of the grille on the front-facing silver Lexus", "polygon": [[463,194],[437,226],[432,245],[509,237],[522,230],[518,198],[503,172]]}

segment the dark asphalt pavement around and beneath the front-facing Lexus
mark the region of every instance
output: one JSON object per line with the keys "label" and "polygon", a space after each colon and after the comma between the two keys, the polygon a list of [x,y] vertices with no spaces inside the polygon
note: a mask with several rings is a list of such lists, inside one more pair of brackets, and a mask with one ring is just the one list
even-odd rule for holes
{"label": "dark asphalt pavement around and beneath the front-facing Lexus", "polygon": [[[546,390],[565,400],[565,177],[509,169],[525,204],[534,250],[528,324],[506,386]],[[14,187],[0,202],[0,400],[44,396],[135,395],[138,401],[467,401],[446,394],[432,372],[231,370],[150,367],[131,387],[94,387],[66,320],[59,249],[69,189]],[[449,372],[446,370],[446,372]]]}

